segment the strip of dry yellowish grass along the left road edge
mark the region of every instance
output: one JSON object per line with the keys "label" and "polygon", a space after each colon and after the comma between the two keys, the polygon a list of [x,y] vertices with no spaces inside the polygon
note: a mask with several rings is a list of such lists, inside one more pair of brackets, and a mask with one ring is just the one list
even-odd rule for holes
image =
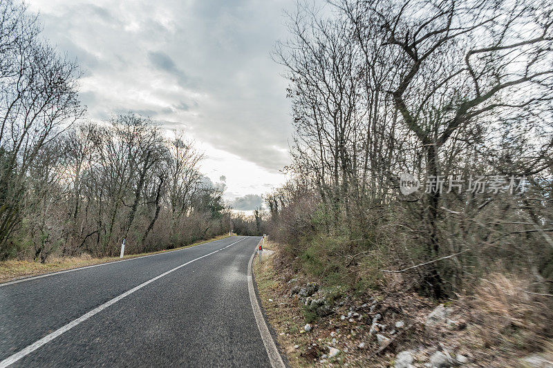
{"label": "strip of dry yellowish grass along the left road edge", "polygon": [[[187,246],[181,246],[176,249],[169,249],[167,251],[157,251],[152,253],[140,253],[125,255],[123,259],[142,257],[143,255],[151,255],[158,253],[165,253],[168,251],[176,251],[178,249],[189,248],[190,246],[196,246],[214,240],[221,240],[228,238],[229,235],[220,235],[216,238],[209,240],[203,240],[202,242],[196,242]],[[32,261],[19,261],[19,260],[7,260],[0,262],[0,282],[8,282],[17,278],[23,278],[26,276],[42,275],[44,273],[64,271],[67,269],[77,269],[79,267],[92,266],[93,264],[109,263],[120,260],[119,257],[105,257],[105,258],[92,258],[90,255],[80,255],[79,257],[61,257],[50,258],[46,263],[32,262]]]}

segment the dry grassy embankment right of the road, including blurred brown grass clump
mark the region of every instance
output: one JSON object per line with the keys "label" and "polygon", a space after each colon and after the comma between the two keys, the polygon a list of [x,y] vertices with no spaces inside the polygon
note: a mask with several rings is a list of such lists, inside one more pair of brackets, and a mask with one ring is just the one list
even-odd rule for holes
{"label": "dry grassy embankment right of the road, including blurred brown grass clump", "polygon": [[[412,353],[413,367],[421,368],[440,350],[467,357],[466,368],[537,367],[526,361],[534,356],[553,362],[553,340],[545,331],[551,316],[544,307],[547,297],[525,293],[528,286],[514,275],[491,274],[471,295],[442,300],[449,320],[428,329],[427,316],[438,301],[402,290],[404,283],[373,277],[381,286],[362,293],[357,282],[339,285],[328,272],[317,277],[304,258],[283,258],[285,246],[265,242],[265,248],[276,253],[264,255],[261,264],[255,258],[254,277],[291,367],[390,367],[397,353],[406,350]],[[316,316],[299,303],[297,294],[291,295],[294,287],[312,281],[321,287],[314,298],[326,298],[332,306],[328,316]],[[377,330],[388,338],[382,344],[369,333],[375,316],[387,325]],[[390,332],[400,320],[404,327]],[[330,347],[338,351],[335,356],[330,356]]]}

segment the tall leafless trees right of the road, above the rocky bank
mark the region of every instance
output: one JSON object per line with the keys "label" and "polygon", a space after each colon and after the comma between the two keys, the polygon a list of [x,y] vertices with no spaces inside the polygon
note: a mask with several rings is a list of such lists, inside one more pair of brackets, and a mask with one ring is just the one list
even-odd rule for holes
{"label": "tall leafless trees right of the road, above the rocky bank", "polygon": [[[510,222],[526,249],[544,255],[525,250],[516,267],[534,270],[545,287],[552,11],[487,0],[299,6],[292,39],[275,52],[288,70],[296,128],[292,182],[266,197],[282,239],[299,246],[324,231],[346,254],[379,249],[394,264],[418,262],[410,272],[420,291],[441,298],[474,280],[469,268],[489,265],[498,242],[513,244]],[[457,177],[527,175],[532,195],[442,193],[439,184],[404,197],[402,171],[446,191]],[[495,254],[507,259],[515,249]]]}

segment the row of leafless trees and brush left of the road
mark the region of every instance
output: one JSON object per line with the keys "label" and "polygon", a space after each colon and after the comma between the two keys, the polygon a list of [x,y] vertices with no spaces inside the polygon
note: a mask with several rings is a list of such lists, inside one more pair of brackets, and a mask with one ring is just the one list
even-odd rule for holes
{"label": "row of leafless trees and brush left of the road", "polygon": [[0,60],[0,261],[90,264],[123,239],[140,254],[229,231],[194,142],[132,112],[90,121],[82,70],[17,1],[0,3]]}

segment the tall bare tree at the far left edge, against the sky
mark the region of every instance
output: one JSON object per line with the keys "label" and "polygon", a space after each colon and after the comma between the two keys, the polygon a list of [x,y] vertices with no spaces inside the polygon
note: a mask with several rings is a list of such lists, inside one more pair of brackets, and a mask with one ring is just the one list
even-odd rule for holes
{"label": "tall bare tree at the far left edge, against the sky", "polygon": [[26,175],[41,152],[84,109],[77,99],[77,65],[39,39],[24,6],[0,4],[0,256],[15,226]]}

